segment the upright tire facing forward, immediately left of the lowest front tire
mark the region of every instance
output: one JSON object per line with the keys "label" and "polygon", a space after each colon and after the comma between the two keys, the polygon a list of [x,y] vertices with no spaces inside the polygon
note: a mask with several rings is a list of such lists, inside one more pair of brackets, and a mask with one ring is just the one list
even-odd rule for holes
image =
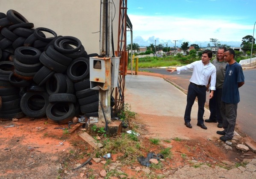
{"label": "upright tire facing forward, immediately left of the lowest front tire", "polygon": [[[45,104],[44,107],[39,109],[39,110],[31,110],[29,108],[29,100],[31,98],[38,98],[38,99],[44,99]],[[44,117],[46,114],[46,108],[49,104],[49,95],[46,92],[26,92],[22,97],[21,97],[21,110],[22,112],[24,112],[24,114],[26,114],[26,116],[29,117],[35,117],[35,118],[39,118],[39,117]]]}

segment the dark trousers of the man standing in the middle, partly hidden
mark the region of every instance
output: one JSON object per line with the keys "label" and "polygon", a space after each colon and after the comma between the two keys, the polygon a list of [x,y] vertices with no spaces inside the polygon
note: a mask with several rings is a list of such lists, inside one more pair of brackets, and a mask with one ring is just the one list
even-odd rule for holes
{"label": "dark trousers of the man standing in the middle, partly hidden", "polygon": [[222,88],[216,88],[213,94],[213,98],[209,100],[209,109],[211,112],[209,119],[217,120],[218,123],[222,123],[221,96],[222,96]]}

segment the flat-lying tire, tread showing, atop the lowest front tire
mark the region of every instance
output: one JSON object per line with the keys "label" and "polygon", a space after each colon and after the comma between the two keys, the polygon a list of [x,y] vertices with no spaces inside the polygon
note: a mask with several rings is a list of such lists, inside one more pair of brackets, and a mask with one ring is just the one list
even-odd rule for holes
{"label": "flat-lying tire, tread showing, atop the lowest front tire", "polygon": [[65,103],[76,103],[77,97],[74,94],[68,93],[56,93],[49,96],[49,103],[65,102]]}

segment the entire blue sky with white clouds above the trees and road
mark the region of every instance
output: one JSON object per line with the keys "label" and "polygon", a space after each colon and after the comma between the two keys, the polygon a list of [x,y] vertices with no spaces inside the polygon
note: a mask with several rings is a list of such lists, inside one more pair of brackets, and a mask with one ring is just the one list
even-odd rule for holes
{"label": "entire blue sky with white clouds above the trees and road", "polygon": [[127,0],[127,8],[133,43],[140,46],[156,40],[156,45],[174,47],[177,40],[178,47],[184,41],[206,47],[216,38],[240,47],[244,36],[253,35],[256,21],[256,0]]}

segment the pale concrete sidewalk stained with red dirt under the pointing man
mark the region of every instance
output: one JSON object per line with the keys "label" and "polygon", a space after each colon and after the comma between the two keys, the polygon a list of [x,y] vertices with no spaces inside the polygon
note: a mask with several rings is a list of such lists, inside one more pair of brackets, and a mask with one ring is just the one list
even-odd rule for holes
{"label": "pale concrete sidewalk stained with red dirt under the pointing man", "polygon": [[[203,137],[218,139],[220,135],[217,123],[204,123],[207,130],[197,126],[197,102],[191,111],[192,129],[184,125],[186,95],[168,81],[155,76],[127,75],[125,86],[125,103],[131,105],[131,111],[138,114],[147,114],[143,122],[150,126],[149,133],[159,138],[193,139]],[[204,120],[208,119],[210,112],[205,109]],[[152,119],[154,117],[154,119]],[[159,129],[161,128],[161,129]],[[151,137],[152,137],[151,135]]]}

